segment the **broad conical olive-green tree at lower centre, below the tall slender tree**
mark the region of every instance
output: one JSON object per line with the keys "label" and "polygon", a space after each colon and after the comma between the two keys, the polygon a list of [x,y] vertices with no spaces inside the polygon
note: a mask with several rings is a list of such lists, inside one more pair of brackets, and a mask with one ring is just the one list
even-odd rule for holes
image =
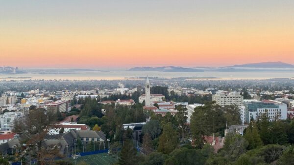
{"label": "broad conical olive-green tree at lower centre, below the tall slender tree", "polygon": [[169,154],[178,145],[178,137],[171,123],[167,123],[163,127],[163,132],[159,137],[158,151]]}

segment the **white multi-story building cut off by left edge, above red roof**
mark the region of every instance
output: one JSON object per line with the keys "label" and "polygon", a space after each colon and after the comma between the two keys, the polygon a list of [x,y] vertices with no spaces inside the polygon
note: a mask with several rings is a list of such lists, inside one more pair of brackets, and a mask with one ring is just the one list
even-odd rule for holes
{"label": "white multi-story building cut off by left edge, above red roof", "polygon": [[14,120],[22,120],[25,117],[21,112],[5,112],[0,115],[0,130],[11,131],[13,129]]}

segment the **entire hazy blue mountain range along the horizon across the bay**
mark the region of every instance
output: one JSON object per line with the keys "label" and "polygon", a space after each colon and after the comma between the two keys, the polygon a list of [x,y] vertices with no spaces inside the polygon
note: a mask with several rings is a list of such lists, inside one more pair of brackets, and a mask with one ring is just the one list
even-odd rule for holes
{"label": "entire hazy blue mountain range along the horizon across the bay", "polygon": [[225,67],[177,67],[177,66],[162,66],[162,67],[133,67],[129,71],[159,71],[159,72],[265,72],[265,71],[294,71],[294,65],[284,62],[260,62],[246,63],[242,65],[233,65]]}

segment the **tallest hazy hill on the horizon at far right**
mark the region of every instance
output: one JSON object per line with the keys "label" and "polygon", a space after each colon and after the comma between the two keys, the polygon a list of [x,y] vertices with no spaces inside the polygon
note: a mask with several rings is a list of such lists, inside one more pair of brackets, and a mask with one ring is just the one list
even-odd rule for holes
{"label": "tallest hazy hill on the horizon at far right", "polygon": [[246,63],[242,65],[226,66],[230,68],[235,67],[249,67],[249,68],[294,68],[294,65],[285,62],[260,62],[260,63]]}

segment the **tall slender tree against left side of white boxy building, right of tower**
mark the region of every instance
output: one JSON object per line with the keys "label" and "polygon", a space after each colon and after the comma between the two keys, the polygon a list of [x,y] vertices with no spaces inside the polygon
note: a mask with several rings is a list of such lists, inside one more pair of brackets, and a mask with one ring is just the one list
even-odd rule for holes
{"label": "tall slender tree against left side of white boxy building, right of tower", "polygon": [[185,132],[185,124],[187,123],[188,119],[188,111],[187,108],[179,105],[176,107],[177,113],[175,114],[175,119],[178,123],[178,126],[181,128],[182,132],[182,138],[184,138],[184,132]]}

